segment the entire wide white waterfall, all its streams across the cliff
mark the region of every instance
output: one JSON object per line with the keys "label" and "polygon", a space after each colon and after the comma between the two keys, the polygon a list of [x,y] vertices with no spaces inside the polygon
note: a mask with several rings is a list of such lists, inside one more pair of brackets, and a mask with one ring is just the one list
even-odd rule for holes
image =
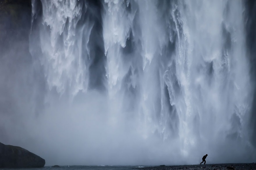
{"label": "entire wide white waterfall, all its streams across the cliff", "polygon": [[[155,144],[160,145],[158,152],[172,145],[168,151],[177,150],[186,159],[196,151],[196,156],[212,152],[214,146],[218,151],[230,143],[250,146],[246,115],[251,87],[240,1],[105,1],[100,4],[102,32],[98,32],[105,50],[103,57],[98,55],[106,72],[89,77],[88,67],[99,67],[90,58],[97,49],[88,45],[96,29],[87,18],[92,5],[42,1],[39,60],[48,94],[56,88],[57,94],[73,98],[82,91],[80,96],[96,99],[97,105],[101,105],[97,98],[104,98],[108,109],[103,117],[108,123],[103,125],[113,134],[106,133],[117,143],[120,133],[140,142],[157,139],[147,146],[152,153]],[[106,75],[107,96],[86,92],[88,81],[100,74]],[[87,107],[83,109],[92,109]],[[140,147],[136,143],[131,146]],[[126,145],[121,147],[129,148]],[[247,153],[242,150],[234,153]],[[218,160],[218,153],[211,155]]]}

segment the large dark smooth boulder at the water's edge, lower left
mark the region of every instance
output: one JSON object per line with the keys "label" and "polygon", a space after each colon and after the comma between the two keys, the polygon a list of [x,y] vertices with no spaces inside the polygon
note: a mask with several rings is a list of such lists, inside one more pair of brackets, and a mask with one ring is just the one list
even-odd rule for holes
{"label": "large dark smooth boulder at the water's edge, lower left", "polygon": [[44,167],[45,160],[19,146],[0,143],[0,168]]}

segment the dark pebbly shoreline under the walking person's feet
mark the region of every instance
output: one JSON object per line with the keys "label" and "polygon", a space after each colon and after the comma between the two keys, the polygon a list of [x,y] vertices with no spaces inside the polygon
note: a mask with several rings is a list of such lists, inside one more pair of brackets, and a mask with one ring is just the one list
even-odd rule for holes
{"label": "dark pebbly shoreline under the walking person's feet", "polygon": [[160,165],[156,167],[138,167],[139,170],[256,170],[256,163],[225,163],[225,164],[205,164],[205,165]]}

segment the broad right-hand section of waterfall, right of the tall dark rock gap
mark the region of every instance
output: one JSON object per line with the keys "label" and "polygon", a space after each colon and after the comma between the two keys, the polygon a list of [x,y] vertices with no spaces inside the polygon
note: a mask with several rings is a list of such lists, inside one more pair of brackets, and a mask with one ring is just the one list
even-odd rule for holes
{"label": "broad right-hand section of waterfall, right of the tall dark rock gap", "polygon": [[[183,156],[203,143],[248,137],[243,120],[251,87],[241,2],[106,3],[109,84],[118,92],[126,90],[120,86],[129,75],[128,86],[139,90],[135,100],[144,133],[177,137]],[[136,65],[122,51],[130,38],[133,56],[128,57],[136,58]]]}

